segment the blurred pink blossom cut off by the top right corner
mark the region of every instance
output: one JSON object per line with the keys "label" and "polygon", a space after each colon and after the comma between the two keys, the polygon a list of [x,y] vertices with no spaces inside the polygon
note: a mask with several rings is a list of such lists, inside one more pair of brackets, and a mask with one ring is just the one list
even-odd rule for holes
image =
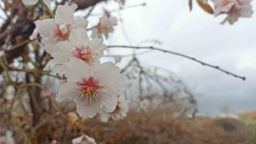
{"label": "blurred pink blossom cut off by the top right corner", "polygon": [[221,22],[224,24],[228,21],[233,25],[239,17],[252,17],[252,0],[214,0],[214,15],[227,14],[228,16]]}

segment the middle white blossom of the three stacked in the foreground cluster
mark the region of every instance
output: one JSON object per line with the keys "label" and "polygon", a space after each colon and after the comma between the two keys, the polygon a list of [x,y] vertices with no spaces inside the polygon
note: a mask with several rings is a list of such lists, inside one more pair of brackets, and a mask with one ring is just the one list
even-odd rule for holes
{"label": "middle white blossom of the three stacked in the foreground cluster", "polygon": [[94,38],[89,41],[87,31],[84,28],[72,29],[69,35],[69,41],[62,41],[54,46],[52,53],[55,65],[54,73],[64,74],[63,64],[67,63],[70,58],[83,60],[89,66],[94,63],[100,63],[100,58],[103,56],[103,51],[107,49],[103,40]]}

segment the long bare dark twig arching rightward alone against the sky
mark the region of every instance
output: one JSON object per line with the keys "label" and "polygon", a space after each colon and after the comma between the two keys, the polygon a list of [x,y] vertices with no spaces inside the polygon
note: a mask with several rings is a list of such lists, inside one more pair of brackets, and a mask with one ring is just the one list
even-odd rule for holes
{"label": "long bare dark twig arching rightward alone against the sky", "polygon": [[181,56],[181,57],[184,57],[184,58],[187,58],[187,59],[196,61],[196,62],[202,64],[203,66],[208,66],[208,67],[217,69],[217,70],[219,70],[219,71],[222,71],[222,72],[226,73],[227,75],[231,75],[231,76],[240,78],[240,79],[242,79],[242,80],[244,80],[244,81],[245,81],[245,79],[246,79],[246,78],[243,77],[243,76],[238,76],[238,75],[236,75],[236,74],[234,74],[234,73],[228,72],[228,71],[226,71],[226,70],[220,68],[219,66],[213,66],[213,65],[211,65],[211,64],[208,64],[208,63],[205,63],[205,62],[203,62],[203,61],[197,60],[197,59],[195,59],[195,58],[193,58],[193,57],[190,57],[190,56],[187,56],[187,55],[178,53],[178,52],[172,52],[172,51],[168,51],[168,50],[163,50],[163,49],[156,48],[156,47],[153,47],[153,46],[138,47],[138,46],[126,46],[126,45],[109,45],[108,48],[151,49],[151,50],[157,50],[157,51],[161,51],[161,52],[171,53],[171,54],[174,54],[174,55],[178,55],[178,56]]}

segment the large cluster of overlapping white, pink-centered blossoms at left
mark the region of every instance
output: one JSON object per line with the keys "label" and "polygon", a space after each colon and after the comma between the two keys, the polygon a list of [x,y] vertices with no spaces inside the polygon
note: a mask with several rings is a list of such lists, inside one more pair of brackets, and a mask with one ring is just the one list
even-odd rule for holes
{"label": "large cluster of overlapping white, pink-centered blossoms at left", "polygon": [[[103,16],[89,38],[88,21],[83,18],[74,20],[76,8],[76,4],[58,5],[54,19],[35,21],[31,38],[37,37],[38,33],[43,37],[44,50],[53,58],[46,67],[67,77],[67,82],[60,85],[56,101],[75,101],[76,110],[82,117],[91,118],[99,111],[116,113],[120,111],[117,110],[117,92],[124,83],[120,68],[116,66],[121,59],[115,58],[115,63],[100,63],[100,58],[107,49],[101,34],[107,38],[117,20]],[[125,113],[127,111],[128,105]]]}

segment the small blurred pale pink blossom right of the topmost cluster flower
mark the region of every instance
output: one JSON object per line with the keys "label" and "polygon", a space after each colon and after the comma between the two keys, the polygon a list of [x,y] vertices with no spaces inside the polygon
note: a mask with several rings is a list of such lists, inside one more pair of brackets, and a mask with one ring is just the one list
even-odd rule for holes
{"label": "small blurred pale pink blossom right of the topmost cluster flower", "polygon": [[116,17],[111,17],[104,15],[100,18],[100,24],[92,29],[92,38],[98,37],[102,38],[101,34],[103,34],[106,38],[108,38],[109,33],[114,32],[114,26],[117,25]]}

